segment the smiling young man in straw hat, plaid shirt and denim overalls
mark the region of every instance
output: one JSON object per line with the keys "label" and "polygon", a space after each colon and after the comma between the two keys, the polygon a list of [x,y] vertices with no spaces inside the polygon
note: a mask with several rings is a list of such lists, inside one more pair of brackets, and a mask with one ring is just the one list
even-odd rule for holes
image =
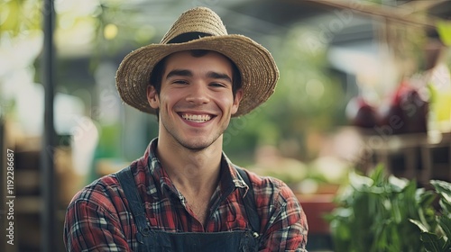
{"label": "smiling young man in straw hat, plaid shirt and denim overalls", "polygon": [[305,251],[307,221],[290,188],[231,163],[231,117],[265,102],[279,77],[268,50],[228,35],[203,7],[180,15],[160,44],[134,50],[116,86],[125,103],[157,114],[143,157],[77,193],[69,251]]}

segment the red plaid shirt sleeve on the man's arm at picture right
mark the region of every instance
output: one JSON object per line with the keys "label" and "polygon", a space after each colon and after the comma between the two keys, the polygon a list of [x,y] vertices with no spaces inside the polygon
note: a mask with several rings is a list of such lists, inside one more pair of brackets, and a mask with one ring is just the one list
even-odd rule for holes
{"label": "red plaid shirt sleeve on the man's arm at picture right", "polygon": [[283,183],[279,193],[274,194],[259,251],[307,251],[307,218],[298,198]]}

